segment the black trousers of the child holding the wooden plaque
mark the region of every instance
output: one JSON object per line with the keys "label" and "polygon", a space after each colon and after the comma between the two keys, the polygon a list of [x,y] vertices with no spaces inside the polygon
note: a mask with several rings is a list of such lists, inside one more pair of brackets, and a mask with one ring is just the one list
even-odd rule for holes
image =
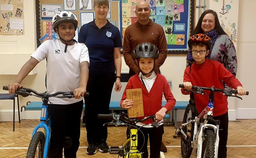
{"label": "black trousers of the child holding the wooden plaque", "polygon": [[142,150],[140,152],[143,152],[142,156],[143,158],[149,157],[148,152],[148,139],[150,143],[150,158],[160,158],[160,150],[161,150],[161,143],[162,143],[162,130],[164,125],[161,125],[159,127],[152,127],[152,128],[138,128],[141,129],[141,131],[144,134],[145,137],[145,143],[143,145],[143,135],[140,131],[138,131],[138,147],[137,149]]}

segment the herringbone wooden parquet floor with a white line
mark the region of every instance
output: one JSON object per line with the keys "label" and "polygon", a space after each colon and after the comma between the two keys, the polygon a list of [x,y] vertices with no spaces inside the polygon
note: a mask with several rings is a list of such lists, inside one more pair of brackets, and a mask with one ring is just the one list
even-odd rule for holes
{"label": "herringbone wooden parquet floor with a white line", "polygon": [[[12,122],[0,122],[0,158],[23,158],[31,140],[34,127],[39,120],[22,120],[16,122],[15,131],[12,131]],[[125,127],[108,126],[107,143],[111,146],[121,146],[125,141]],[[180,158],[180,141],[173,139],[174,126],[164,127],[163,142],[167,145],[165,158]],[[229,122],[228,158],[256,158],[256,120],[237,120]],[[78,158],[117,158],[117,155],[101,153],[97,149],[95,155],[85,153],[88,146],[85,126],[81,126],[80,148]],[[19,148],[17,148],[19,147]],[[192,158],[196,158],[193,151]]]}

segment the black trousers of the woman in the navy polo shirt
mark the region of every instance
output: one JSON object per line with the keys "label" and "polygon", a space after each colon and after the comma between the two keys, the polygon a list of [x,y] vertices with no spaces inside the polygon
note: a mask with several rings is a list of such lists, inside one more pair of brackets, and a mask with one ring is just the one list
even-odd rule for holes
{"label": "black trousers of the woman in the navy polo shirt", "polygon": [[89,72],[87,83],[89,97],[85,97],[85,127],[89,144],[107,140],[107,125],[103,126],[103,124],[110,120],[98,119],[97,116],[109,113],[114,82],[115,72],[106,74]]}

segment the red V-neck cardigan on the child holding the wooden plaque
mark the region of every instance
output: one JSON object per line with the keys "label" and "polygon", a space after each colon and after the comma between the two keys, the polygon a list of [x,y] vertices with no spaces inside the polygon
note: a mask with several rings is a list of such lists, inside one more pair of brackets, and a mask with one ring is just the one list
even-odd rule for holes
{"label": "red V-neck cardigan on the child holding the wooden plaque", "polygon": [[[158,73],[157,73],[155,82],[149,92],[147,91],[146,87],[142,84],[141,80],[138,77],[138,74],[135,74],[134,76],[132,76],[125,87],[122,100],[120,102],[120,106],[122,105],[123,101],[126,99],[126,90],[136,89],[136,88],[142,89],[143,110],[144,110],[144,116],[137,117],[138,119],[142,119],[150,115],[155,115],[156,112],[158,112],[162,108],[163,93],[167,101],[167,103],[164,105],[167,111],[170,111],[175,106],[176,100],[174,99],[174,96],[171,92],[171,89],[167,80],[163,75]],[[144,121],[143,123],[149,124],[149,123],[152,123],[152,121],[147,120],[147,121]]]}

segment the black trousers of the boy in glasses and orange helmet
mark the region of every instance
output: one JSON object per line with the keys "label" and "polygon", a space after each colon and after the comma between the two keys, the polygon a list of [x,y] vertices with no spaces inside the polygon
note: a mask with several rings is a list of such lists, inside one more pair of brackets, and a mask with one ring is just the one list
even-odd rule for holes
{"label": "black trousers of the boy in glasses and orange helmet", "polygon": [[227,157],[227,141],[228,141],[228,112],[214,116],[214,120],[220,120],[220,130],[219,130],[219,148],[218,148],[218,158]]}

